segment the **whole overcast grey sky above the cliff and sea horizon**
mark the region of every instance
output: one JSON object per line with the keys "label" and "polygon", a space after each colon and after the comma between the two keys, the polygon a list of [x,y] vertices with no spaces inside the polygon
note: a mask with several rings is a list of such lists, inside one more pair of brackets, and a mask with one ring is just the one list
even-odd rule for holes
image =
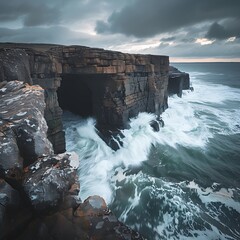
{"label": "whole overcast grey sky above the cliff and sea horizon", "polygon": [[0,42],[240,61],[240,0],[0,0]]}

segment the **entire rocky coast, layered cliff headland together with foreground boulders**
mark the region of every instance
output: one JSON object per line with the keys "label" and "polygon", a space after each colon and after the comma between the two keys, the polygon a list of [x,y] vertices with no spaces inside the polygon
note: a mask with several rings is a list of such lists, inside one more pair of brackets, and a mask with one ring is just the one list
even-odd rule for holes
{"label": "entire rocky coast, layered cliff headland together with foreground boulders", "polygon": [[[82,113],[93,114],[100,129],[126,127],[141,111],[159,116],[167,108],[173,79],[178,92],[189,88],[188,74],[169,75],[166,56],[3,44],[0,239],[143,239],[120,223],[101,197],[81,201],[79,162],[65,152],[60,107],[79,113],[86,104],[91,112]],[[74,88],[83,89],[83,97],[67,103]],[[76,105],[77,100],[85,102]]]}

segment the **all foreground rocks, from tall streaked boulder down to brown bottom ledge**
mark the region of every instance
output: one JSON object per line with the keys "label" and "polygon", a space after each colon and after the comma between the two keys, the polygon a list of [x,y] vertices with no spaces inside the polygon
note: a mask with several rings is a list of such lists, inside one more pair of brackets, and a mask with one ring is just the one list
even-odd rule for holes
{"label": "all foreground rocks, from tall streaked boulder down to brown bottom ledge", "polygon": [[143,239],[105,201],[78,197],[78,158],[53,154],[44,90],[0,83],[0,239]]}

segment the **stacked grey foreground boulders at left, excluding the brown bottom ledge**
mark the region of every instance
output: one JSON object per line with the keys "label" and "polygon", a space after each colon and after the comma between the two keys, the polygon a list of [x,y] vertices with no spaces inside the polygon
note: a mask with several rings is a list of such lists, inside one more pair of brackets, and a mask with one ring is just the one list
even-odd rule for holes
{"label": "stacked grey foreground boulders at left, excluding the brown bottom ledge", "polygon": [[[1,83],[0,239],[13,239],[36,210],[64,203],[77,184],[70,155],[53,155],[44,110],[44,90],[39,86]],[[47,182],[54,178],[56,183]]]}

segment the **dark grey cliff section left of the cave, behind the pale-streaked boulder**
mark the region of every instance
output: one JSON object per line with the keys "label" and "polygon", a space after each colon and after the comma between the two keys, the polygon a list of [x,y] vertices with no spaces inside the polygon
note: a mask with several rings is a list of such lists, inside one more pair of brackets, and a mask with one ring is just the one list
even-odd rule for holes
{"label": "dark grey cliff section left of the cave, behind the pale-streaked boulder", "polygon": [[38,84],[45,90],[44,116],[48,125],[48,139],[56,153],[64,152],[62,110],[56,93],[61,81],[61,64],[54,54],[23,46],[15,46],[15,49],[14,46],[0,49],[0,82],[19,80]]}

